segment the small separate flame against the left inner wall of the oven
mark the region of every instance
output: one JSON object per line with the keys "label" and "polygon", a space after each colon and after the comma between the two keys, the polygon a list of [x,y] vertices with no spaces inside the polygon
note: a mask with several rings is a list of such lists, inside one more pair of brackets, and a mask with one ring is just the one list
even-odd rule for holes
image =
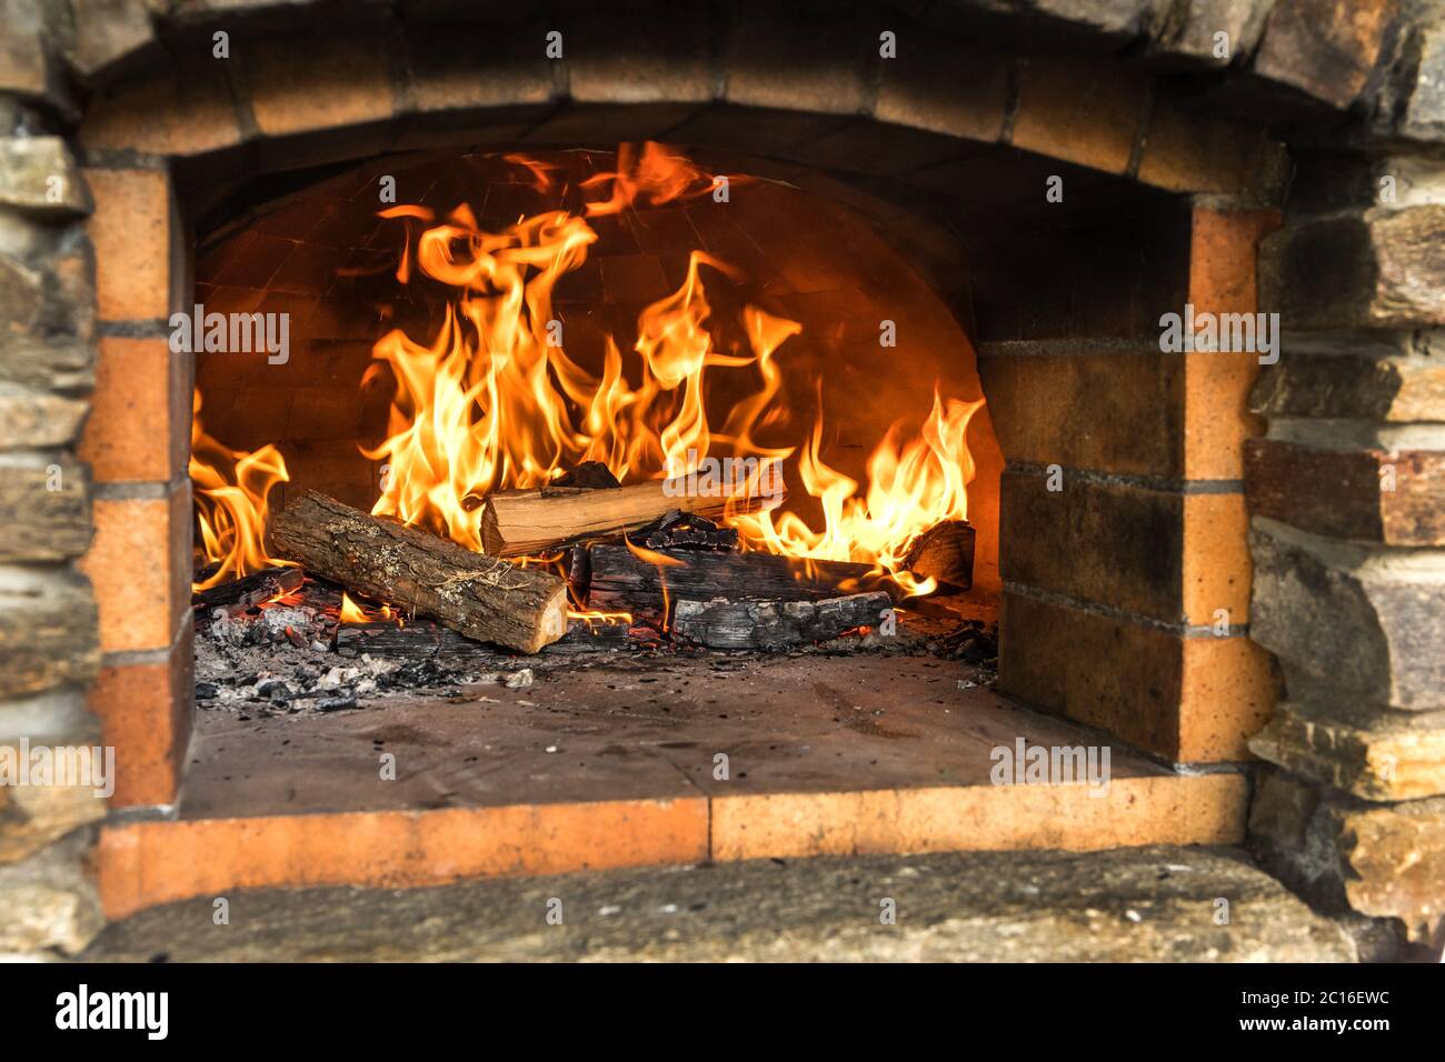
{"label": "small separate flame against the left inner wall of the oven", "polygon": [[295,566],[292,561],[266,552],[266,496],[277,483],[290,480],[286,461],[273,445],[257,451],[234,451],[205,433],[201,426],[201,392],[191,403],[191,484],[195,494],[197,527],[207,561],[220,562],[192,590],[238,579],[262,568]]}

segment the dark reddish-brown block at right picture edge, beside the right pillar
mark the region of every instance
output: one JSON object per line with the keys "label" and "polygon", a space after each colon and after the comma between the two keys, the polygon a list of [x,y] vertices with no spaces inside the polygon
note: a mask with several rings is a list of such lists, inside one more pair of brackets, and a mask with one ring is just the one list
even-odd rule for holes
{"label": "dark reddish-brown block at right picture edge, beside the right pillar", "polygon": [[[1393,490],[1384,490],[1384,472]],[[1324,449],[1251,439],[1250,507],[1315,535],[1390,546],[1445,546],[1445,454]]]}

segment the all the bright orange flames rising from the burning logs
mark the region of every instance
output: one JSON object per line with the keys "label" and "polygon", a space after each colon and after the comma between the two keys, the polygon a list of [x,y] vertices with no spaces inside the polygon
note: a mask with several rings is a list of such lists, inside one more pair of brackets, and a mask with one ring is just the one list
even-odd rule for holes
{"label": "all the bright orange flames rising from the burning logs", "polygon": [[[504,159],[527,172],[536,191],[566,192],[555,178],[561,168],[522,155]],[[814,559],[863,562],[909,592],[932,591],[932,579],[905,571],[905,558],[935,523],[967,519],[974,462],[965,435],[983,400],[945,399],[935,387],[925,420],[894,423],[868,457],[866,485],[824,461],[821,380],[814,381],[819,413],[809,436],[798,441],[801,445],[779,445],[789,441],[790,429],[779,353],[802,327],[747,306],[741,311],[741,341],[720,348],[715,337],[737,322],[715,319],[707,285],[715,283],[715,276],[736,280],[738,275],[704,251],[691,254],[672,295],[642,311],[630,348],[605,338],[600,371],[568,354],[552,299],[558,282],[585,264],[598,240],[590,218],[685,201],[714,186],[709,173],[660,144],[623,144],[616,172],[582,182],[581,212],[543,211],[487,231],[465,205],[439,223],[419,205],[380,211],[406,228],[397,280],[409,283],[420,275],[449,286],[454,295],[429,341],[397,328],[373,347],[363,386],[389,384],[392,407],[384,439],[363,448],[368,458],[389,465],[384,491],[371,511],[481,552],[486,496],[545,485],[568,465],[600,461],[629,483],[686,475],[714,449],[760,458],[759,475],[776,474],[777,464],[796,454],[802,485],[821,504],[822,530],[786,510],[728,513],[724,519],[738,529],[744,548],[798,558],[801,566]],[[715,396],[721,393],[741,397],[718,409]],[[198,506],[202,498],[207,506],[202,538],[208,556],[237,553],[207,585],[225,578],[227,571],[277,564],[264,555],[259,532],[264,527],[266,490],[286,478],[280,455],[270,446],[230,455],[199,433],[199,422],[197,432],[192,475]],[[220,507],[227,496],[218,491],[228,484],[201,459],[208,446],[234,462],[249,462],[244,472],[236,464],[240,487],[231,487],[250,498],[250,509],[240,514],[228,516],[233,510]],[[218,516],[208,520],[212,513]],[[234,527],[241,533],[233,530],[225,539]],[[668,558],[629,546],[666,574]],[[366,616],[344,603],[344,620],[351,621],[347,604]],[[588,621],[626,616],[590,613],[575,604],[569,614]]]}

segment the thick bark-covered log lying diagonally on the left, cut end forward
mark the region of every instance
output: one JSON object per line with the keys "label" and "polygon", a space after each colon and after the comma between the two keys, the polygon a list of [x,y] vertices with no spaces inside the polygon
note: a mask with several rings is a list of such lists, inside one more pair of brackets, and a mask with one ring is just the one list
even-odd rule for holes
{"label": "thick bark-covered log lying diagonally on the left, cut end forward", "polygon": [[316,491],[272,519],[288,559],[478,642],[535,653],[566,633],[566,585],[416,527],[379,520]]}

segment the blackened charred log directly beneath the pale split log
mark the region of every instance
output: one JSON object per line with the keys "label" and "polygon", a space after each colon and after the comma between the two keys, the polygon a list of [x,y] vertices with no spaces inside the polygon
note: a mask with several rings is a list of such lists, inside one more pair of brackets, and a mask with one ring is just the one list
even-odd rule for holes
{"label": "blackened charred log directly beneath the pale split log", "polygon": [[[627,546],[597,545],[590,551],[590,608],[660,613],[672,601],[821,601],[870,590],[866,564],[795,561],[776,553],[721,553],[660,549],[643,559]],[[666,590],[663,590],[666,587]]]}

